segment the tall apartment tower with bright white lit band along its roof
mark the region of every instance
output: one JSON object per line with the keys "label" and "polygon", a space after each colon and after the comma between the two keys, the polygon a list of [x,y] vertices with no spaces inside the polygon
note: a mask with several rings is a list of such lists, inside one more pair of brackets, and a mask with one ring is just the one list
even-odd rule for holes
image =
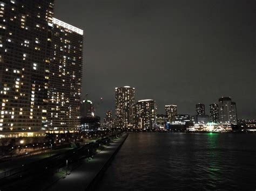
{"label": "tall apartment tower with bright white lit band along its roof", "polygon": [[80,126],[83,65],[83,30],[52,19],[49,63],[48,129],[76,129]]}

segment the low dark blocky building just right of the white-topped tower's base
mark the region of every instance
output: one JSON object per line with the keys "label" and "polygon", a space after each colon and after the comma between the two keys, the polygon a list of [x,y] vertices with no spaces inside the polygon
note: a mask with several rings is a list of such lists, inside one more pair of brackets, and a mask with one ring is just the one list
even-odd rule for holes
{"label": "low dark blocky building just right of the white-topped tower's base", "polygon": [[80,131],[97,131],[100,128],[100,117],[83,117],[80,123]]}

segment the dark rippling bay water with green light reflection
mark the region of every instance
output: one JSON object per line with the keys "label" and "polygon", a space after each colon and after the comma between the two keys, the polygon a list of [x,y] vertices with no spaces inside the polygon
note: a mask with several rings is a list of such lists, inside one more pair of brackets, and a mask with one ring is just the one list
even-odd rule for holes
{"label": "dark rippling bay water with green light reflection", "polygon": [[256,134],[130,133],[97,190],[256,189]]}

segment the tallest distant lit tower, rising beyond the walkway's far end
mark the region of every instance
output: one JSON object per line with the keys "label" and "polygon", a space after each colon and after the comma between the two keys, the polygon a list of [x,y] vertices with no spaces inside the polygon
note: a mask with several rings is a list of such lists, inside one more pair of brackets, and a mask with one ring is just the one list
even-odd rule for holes
{"label": "tallest distant lit tower, rising beyond the walkway's far end", "polygon": [[116,128],[128,128],[134,121],[134,93],[130,86],[116,88]]}

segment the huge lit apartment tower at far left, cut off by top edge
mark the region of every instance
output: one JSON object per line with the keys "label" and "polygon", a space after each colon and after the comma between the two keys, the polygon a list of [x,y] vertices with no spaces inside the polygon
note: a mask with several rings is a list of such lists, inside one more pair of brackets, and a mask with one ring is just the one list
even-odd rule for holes
{"label": "huge lit apartment tower at far left, cut off by top edge", "polygon": [[53,0],[0,2],[0,131],[45,128]]}

